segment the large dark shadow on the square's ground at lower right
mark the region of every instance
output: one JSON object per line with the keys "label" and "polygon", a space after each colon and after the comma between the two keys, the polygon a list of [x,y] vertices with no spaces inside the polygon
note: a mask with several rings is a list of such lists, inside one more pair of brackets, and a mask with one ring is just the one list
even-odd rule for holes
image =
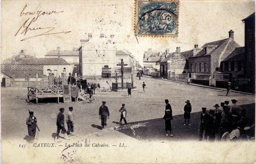
{"label": "large dark shadow on the square's ground at lower right", "polygon": [[[247,110],[247,118],[254,124],[255,120],[255,103],[241,105],[243,109]],[[200,125],[200,115],[202,112],[191,113],[190,124],[192,126],[184,126],[184,115],[175,115],[172,120],[172,140],[198,140],[199,137],[199,125]],[[209,110],[207,110],[209,113]],[[163,114],[164,116],[164,114]],[[157,118],[152,120],[130,122],[127,119],[128,124],[134,129],[134,132],[137,136],[142,137],[148,140],[166,140],[168,139],[165,136],[165,120],[163,118]],[[140,126],[142,125],[142,126]],[[145,125],[145,126],[143,126]],[[118,130],[121,133],[124,133],[130,137],[135,137],[131,128],[120,128]],[[216,135],[217,136],[217,135]],[[170,136],[168,136],[171,138]]]}

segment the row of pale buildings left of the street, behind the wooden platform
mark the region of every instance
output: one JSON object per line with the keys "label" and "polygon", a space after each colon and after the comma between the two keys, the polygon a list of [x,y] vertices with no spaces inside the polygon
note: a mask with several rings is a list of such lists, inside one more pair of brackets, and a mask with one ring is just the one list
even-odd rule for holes
{"label": "row of pale buildings left of the street, behind the wooden platform", "polygon": [[[103,34],[101,34],[102,36]],[[96,37],[95,37],[96,39]],[[99,39],[99,38],[97,38]],[[96,46],[91,41],[92,34],[87,39],[81,39],[81,46],[72,50],[61,50],[57,47],[46,53],[44,58],[36,58],[26,51],[21,50],[15,56],[4,60],[1,63],[1,73],[9,77],[28,77],[29,74],[34,76],[61,76],[61,73],[74,75],[101,76],[102,70],[114,69],[123,59],[133,70],[141,67],[135,57],[128,50],[116,50],[114,44],[110,40],[104,40],[100,37],[102,46]]]}

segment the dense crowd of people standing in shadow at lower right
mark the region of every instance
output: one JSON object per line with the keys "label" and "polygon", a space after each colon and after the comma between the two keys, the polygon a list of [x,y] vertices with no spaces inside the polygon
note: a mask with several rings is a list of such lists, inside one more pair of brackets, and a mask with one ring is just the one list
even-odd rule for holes
{"label": "dense crowd of people standing in shadow at lower right", "polygon": [[229,101],[221,102],[221,106],[215,104],[215,109],[210,109],[209,113],[205,107],[202,108],[198,141],[202,141],[203,132],[204,139],[207,140],[209,136],[209,141],[214,141],[216,134],[219,141],[226,140],[227,137],[236,140],[254,136],[251,134],[253,130],[250,130],[254,124],[246,117],[247,111],[236,104],[237,100],[231,101],[231,106]]}

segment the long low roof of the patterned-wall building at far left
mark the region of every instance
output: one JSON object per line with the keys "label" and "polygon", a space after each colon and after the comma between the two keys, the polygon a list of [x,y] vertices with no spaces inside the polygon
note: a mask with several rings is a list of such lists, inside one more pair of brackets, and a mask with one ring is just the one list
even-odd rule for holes
{"label": "long low roof of the patterned-wall building at far left", "polygon": [[70,65],[63,58],[15,58],[3,61],[2,65]]}

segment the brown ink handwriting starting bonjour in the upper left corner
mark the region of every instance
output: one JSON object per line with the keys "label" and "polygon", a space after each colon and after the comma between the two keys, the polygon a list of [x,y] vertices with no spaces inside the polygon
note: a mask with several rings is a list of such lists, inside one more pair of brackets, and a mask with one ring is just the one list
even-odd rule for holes
{"label": "brown ink handwriting starting bonjour in the upper left corner", "polygon": [[[16,34],[14,36],[17,36],[20,32],[21,35],[26,35],[29,31],[30,32],[33,32],[33,31],[42,31],[41,34],[39,35],[34,35],[34,36],[30,36],[30,37],[27,37],[27,38],[24,38],[20,41],[24,41],[24,40],[28,40],[28,39],[31,39],[31,38],[34,38],[34,37],[37,37],[37,36],[43,36],[43,35],[53,35],[53,34],[61,34],[61,33],[64,33],[64,34],[67,34],[71,31],[65,31],[65,32],[53,32],[52,30],[55,29],[55,27],[32,27],[33,26],[33,23],[36,22],[37,20],[39,20],[38,18],[41,17],[41,16],[49,16],[51,14],[58,14],[58,13],[62,13],[64,11],[51,11],[51,12],[46,12],[46,11],[37,11],[37,12],[25,12],[25,9],[26,9],[27,5],[24,6],[23,10],[21,11],[20,13],[20,17],[24,16],[24,15],[32,15],[34,16],[32,19],[31,18],[28,18],[25,20],[25,22],[21,25],[21,27],[19,28],[19,30],[16,32]],[[52,32],[52,33],[50,33]]]}

